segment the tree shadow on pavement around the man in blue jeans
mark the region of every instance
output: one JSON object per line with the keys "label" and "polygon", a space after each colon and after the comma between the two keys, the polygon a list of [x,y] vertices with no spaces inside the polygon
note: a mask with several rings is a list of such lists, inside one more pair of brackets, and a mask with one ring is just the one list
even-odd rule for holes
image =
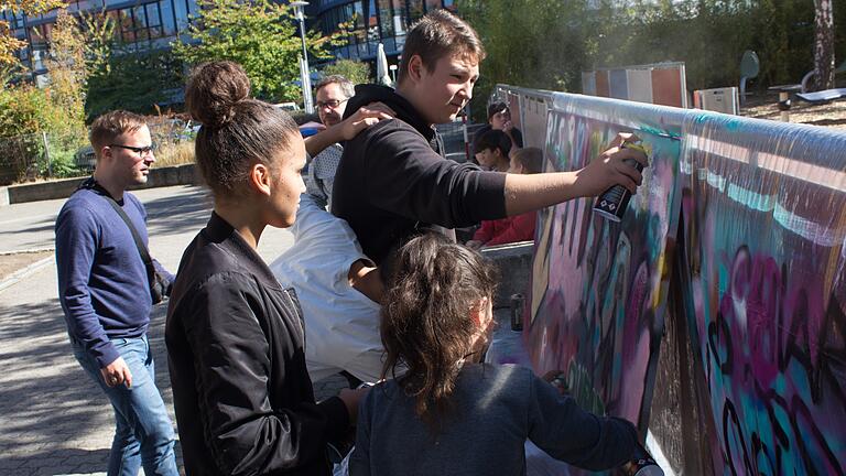
{"label": "tree shadow on pavement around the man in blue jeans", "polygon": [[[165,313],[166,303],[153,309],[149,336],[156,383],[175,421]],[[111,405],[74,358],[58,300],[0,304],[0,474],[105,472]]]}

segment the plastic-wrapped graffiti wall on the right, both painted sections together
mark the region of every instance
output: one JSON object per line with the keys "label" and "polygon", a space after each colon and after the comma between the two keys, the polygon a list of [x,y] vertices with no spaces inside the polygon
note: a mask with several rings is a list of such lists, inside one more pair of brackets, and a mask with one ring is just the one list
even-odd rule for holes
{"label": "plastic-wrapped graffiti wall on the right, both painted sections together", "polygon": [[552,170],[583,166],[620,130],[652,149],[621,224],[586,199],[539,214],[524,331],[535,370],[565,370],[582,405],[644,430],[677,280],[679,351],[707,392],[682,402],[708,419],[697,456],[715,474],[845,474],[846,134],[509,91],[549,106],[523,126],[544,127]]}

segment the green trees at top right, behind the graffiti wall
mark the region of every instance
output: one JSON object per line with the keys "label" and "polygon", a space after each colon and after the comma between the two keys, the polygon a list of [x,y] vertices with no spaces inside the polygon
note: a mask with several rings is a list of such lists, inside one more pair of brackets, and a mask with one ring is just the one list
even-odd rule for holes
{"label": "green trees at top right, behind the graffiti wall", "polygon": [[[846,8],[846,0],[832,4]],[[761,58],[759,87],[795,83],[813,68],[809,0],[459,0],[458,7],[488,52],[476,112],[496,83],[578,91],[581,72],[601,67],[684,62],[688,89],[737,85],[745,50]],[[827,21],[833,47],[846,54],[846,29]]]}

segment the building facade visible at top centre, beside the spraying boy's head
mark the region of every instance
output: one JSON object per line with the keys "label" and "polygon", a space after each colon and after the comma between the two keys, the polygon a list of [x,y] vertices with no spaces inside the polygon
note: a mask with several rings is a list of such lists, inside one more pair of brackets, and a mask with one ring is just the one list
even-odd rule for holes
{"label": "building facade visible at top centre, beside the spraying boy's head", "polygon": [[384,45],[389,62],[405,44],[409,26],[434,9],[455,11],[455,0],[312,0],[305,12],[310,29],[328,35],[338,25],[349,25],[350,35],[344,46],[335,47],[336,57],[371,61],[379,43]]}

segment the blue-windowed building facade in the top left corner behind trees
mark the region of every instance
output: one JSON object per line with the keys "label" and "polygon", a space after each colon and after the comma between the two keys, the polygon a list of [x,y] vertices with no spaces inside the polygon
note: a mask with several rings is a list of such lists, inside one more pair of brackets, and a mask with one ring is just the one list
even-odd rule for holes
{"label": "blue-windowed building facade in the top left corner behind trees", "polygon": [[[194,0],[68,0],[70,14],[106,11],[115,20],[115,39],[129,50],[170,47],[170,43],[187,31],[188,18],[197,12]],[[57,10],[41,15],[12,14],[0,11],[13,34],[26,42],[20,58],[30,68],[35,84],[46,82],[48,44]]]}

